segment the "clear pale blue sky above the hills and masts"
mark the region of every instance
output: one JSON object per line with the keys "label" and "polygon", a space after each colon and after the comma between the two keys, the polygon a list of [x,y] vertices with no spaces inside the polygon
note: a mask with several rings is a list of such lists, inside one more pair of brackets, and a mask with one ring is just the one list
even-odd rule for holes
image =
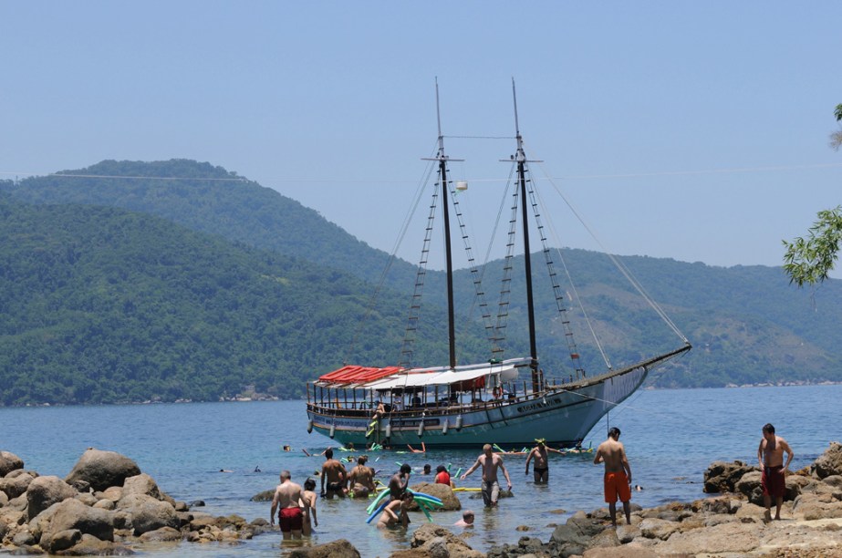
{"label": "clear pale blue sky above the hills and masts", "polygon": [[545,217],[562,230],[569,203],[599,240],[561,245],[780,265],[781,241],[842,203],[840,19],[836,1],[0,0],[0,179],[208,161],[391,252],[438,80],[482,256],[514,79]]}

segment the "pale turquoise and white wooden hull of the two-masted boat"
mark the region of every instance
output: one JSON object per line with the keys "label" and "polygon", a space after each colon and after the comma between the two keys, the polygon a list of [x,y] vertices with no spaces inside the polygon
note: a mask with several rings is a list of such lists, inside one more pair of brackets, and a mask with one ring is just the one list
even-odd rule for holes
{"label": "pale turquoise and white wooden hull of the two-masted boat", "polygon": [[428,448],[472,448],[486,443],[523,447],[536,438],[554,446],[575,447],[600,418],[640,387],[647,374],[648,367],[634,367],[515,400],[470,408],[402,411],[378,421],[344,414],[341,409],[320,412],[309,405],[307,416],[318,433],[360,448],[370,443],[401,446],[421,442]]}

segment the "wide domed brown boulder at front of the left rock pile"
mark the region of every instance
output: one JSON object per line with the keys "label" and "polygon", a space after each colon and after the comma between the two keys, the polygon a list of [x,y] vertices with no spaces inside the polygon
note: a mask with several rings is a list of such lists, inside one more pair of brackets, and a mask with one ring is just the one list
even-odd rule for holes
{"label": "wide domed brown boulder at front of the left rock pile", "polygon": [[39,539],[43,548],[48,548],[59,532],[78,530],[90,534],[100,541],[114,540],[114,512],[91,508],[82,502],[68,498],[53,504],[29,522],[29,530]]}

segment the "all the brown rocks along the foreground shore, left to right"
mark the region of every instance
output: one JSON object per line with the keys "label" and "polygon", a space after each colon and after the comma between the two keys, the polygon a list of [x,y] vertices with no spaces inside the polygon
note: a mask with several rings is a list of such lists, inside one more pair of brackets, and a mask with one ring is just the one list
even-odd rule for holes
{"label": "all the brown rocks along the foreground shore, left to right", "polygon": [[[393,558],[586,558],[654,556],[757,556],[842,558],[842,445],[834,442],[810,467],[787,475],[782,521],[765,522],[760,471],[740,461],[714,462],[704,475],[708,498],[657,508],[632,506],[631,524],[614,529],[608,510],[578,511],[549,541],[518,542],[473,550],[469,540],[435,523],[411,536],[411,548]],[[448,509],[460,504],[448,487]],[[439,494],[437,494],[439,495]],[[26,470],[0,451],[0,540],[16,554],[125,555],[144,542],[236,543],[269,531],[264,519],[213,517],[173,501],[129,458],[88,449],[65,479]],[[621,514],[620,514],[621,515]],[[529,532],[523,525],[518,531]],[[135,549],[135,550],[133,550]],[[359,556],[345,540],[292,550],[289,556]]]}

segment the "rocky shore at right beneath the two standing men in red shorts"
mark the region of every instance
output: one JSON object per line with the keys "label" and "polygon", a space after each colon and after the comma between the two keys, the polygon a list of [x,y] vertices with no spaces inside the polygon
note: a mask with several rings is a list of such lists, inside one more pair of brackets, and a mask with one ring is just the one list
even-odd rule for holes
{"label": "rocky shore at right beneath the two standing men in red shorts", "polygon": [[[787,476],[783,521],[766,522],[764,507],[754,503],[760,490],[759,470],[746,471],[742,463],[717,462],[708,471],[712,474],[706,473],[706,480],[721,480],[706,482],[706,488],[727,487],[733,493],[689,504],[632,508],[631,524],[616,529],[610,526],[604,508],[590,513],[578,511],[566,524],[556,527],[548,542],[523,537],[516,544],[495,546],[487,555],[842,556],[842,476],[818,480],[804,471]],[[762,504],[762,494],[759,500]]]}

